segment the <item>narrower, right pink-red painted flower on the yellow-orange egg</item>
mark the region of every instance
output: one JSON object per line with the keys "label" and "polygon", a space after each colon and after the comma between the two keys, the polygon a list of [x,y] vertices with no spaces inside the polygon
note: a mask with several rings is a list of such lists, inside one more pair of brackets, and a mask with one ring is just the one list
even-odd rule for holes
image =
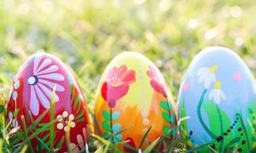
{"label": "narrower, right pink-red painted flower on the yellow-orange egg", "polygon": [[154,91],[156,91],[159,94],[163,94],[163,96],[166,98],[166,89],[165,89],[165,81],[163,77],[160,76],[160,72],[157,71],[152,65],[148,66],[147,75],[150,77],[150,85],[152,88],[154,88]]}

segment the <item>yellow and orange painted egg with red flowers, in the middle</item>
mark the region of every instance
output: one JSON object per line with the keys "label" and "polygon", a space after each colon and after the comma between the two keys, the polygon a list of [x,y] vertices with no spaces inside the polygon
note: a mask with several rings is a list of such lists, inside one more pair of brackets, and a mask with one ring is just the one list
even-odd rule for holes
{"label": "yellow and orange painted egg with red flowers, in the middle", "polygon": [[[109,63],[97,88],[94,113],[96,134],[113,144],[125,141],[137,150],[160,136],[173,139],[177,133],[172,94],[164,78],[136,52],[119,54]],[[127,144],[119,149],[131,151]]]}

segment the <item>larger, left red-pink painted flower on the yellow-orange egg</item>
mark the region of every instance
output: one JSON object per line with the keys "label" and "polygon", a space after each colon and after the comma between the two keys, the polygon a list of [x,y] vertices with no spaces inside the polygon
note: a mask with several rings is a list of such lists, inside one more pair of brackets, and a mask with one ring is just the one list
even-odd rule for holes
{"label": "larger, left red-pink painted flower on the yellow-orange egg", "polygon": [[121,99],[129,90],[131,83],[136,82],[136,72],[127,70],[125,65],[113,67],[106,75],[106,81],[102,84],[102,98],[113,108],[117,100]]}

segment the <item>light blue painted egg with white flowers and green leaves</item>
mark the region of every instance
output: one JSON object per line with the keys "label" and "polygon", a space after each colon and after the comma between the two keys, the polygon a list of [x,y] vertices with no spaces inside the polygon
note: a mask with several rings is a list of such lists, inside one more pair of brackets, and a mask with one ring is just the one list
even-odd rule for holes
{"label": "light blue painted egg with white flowers and green leaves", "polygon": [[255,108],[256,82],[247,65],[228,48],[206,48],[183,77],[179,129],[192,150],[251,152],[256,149]]}

